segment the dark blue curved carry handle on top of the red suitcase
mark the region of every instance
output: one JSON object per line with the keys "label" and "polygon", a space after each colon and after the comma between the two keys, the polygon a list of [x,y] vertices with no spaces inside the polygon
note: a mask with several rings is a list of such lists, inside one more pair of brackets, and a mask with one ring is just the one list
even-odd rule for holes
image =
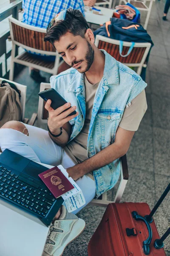
{"label": "dark blue curved carry handle on top of the red suitcase", "polygon": [[149,236],[145,241],[143,241],[143,247],[142,248],[143,248],[144,254],[149,255],[149,253],[150,253],[149,245],[150,245],[150,242],[152,240],[152,229],[150,227],[150,224],[147,222],[147,220],[145,218],[143,218],[141,215],[139,215],[136,211],[132,212],[132,216],[136,221],[143,221],[147,226]]}

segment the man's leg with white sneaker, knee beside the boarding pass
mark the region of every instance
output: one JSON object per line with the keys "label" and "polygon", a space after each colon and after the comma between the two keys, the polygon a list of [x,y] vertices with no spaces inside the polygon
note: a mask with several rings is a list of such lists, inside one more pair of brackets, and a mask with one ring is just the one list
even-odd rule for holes
{"label": "man's leg with white sneaker, knee beside the boarding pass", "polygon": [[82,189],[86,203],[71,213],[68,213],[65,204],[62,205],[51,224],[42,256],[61,256],[65,247],[85,228],[85,221],[75,214],[95,197],[96,188],[94,180],[87,175],[79,178],[76,183]]}

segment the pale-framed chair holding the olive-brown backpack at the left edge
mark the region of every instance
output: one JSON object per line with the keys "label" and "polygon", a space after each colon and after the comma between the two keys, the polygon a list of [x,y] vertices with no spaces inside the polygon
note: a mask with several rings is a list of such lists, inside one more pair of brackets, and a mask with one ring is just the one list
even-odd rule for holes
{"label": "pale-framed chair holding the olive-brown backpack at the left edge", "polygon": [[31,116],[31,119],[25,118],[25,108],[26,108],[26,85],[15,83],[14,81],[9,81],[7,79],[0,78],[0,84],[3,80],[6,80],[7,82],[11,82],[16,85],[17,89],[21,92],[21,106],[23,109],[23,116],[22,116],[22,122],[29,125],[34,125],[34,122],[37,118],[37,113],[33,113]]}

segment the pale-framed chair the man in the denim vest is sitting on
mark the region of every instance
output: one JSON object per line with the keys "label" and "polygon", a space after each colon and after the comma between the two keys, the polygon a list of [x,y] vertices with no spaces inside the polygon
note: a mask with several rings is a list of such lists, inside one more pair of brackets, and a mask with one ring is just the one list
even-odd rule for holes
{"label": "pale-framed chair the man in the denim vest is sitting on", "polygon": [[[40,84],[40,92],[43,90],[46,90],[46,89],[50,89],[50,88],[51,88],[51,86],[48,83]],[[47,124],[48,111],[44,108],[44,105],[45,105],[44,100],[41,97],[39,97],[38,114],[37,114],[37,125],[39,127],[41,126],[41,124],[45,124],[45,123]],[[126,155],[121,157],[121,162],[122,162],[122,166],[121,166],[120,183],[119,183],[119,187],[117,189],[114,201],[108,201],[107,200],[107,192],[105,192],[98,199],[92,200],[90,204],[107,207],[107,205],[110,203],[113,203],[113,202],[119,203],[120,202],[123,192],[125,190],[127,180],[129,178]]]}

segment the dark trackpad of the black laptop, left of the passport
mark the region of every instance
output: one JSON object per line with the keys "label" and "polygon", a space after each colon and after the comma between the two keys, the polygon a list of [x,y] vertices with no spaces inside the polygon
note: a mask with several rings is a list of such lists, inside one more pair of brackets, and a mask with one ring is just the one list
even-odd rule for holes
{"label": "dark trackpad of the black laptop, left of the passport", "polygon": [[42,166],[38,163],[35,162],[30,162],[26,168],[23,170],[22,173],[36,179],[36,180],[40,180],[40,177],[38,176],[41,172],[45,172],[46,170],[48,170],[47,167]]}

